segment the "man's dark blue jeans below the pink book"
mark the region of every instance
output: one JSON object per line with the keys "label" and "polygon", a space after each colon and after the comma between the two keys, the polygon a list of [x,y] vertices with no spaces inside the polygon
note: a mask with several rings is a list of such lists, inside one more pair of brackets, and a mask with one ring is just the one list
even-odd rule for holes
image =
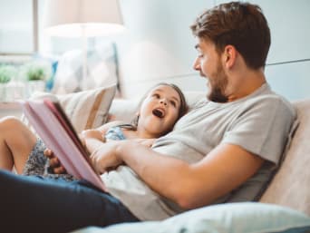
{"label": "man's dark blue jeans below the pink book", "polygon": [[17,176],[0,170],[0,228],[8,232],[69,232],[139,221],[89,182]]}

